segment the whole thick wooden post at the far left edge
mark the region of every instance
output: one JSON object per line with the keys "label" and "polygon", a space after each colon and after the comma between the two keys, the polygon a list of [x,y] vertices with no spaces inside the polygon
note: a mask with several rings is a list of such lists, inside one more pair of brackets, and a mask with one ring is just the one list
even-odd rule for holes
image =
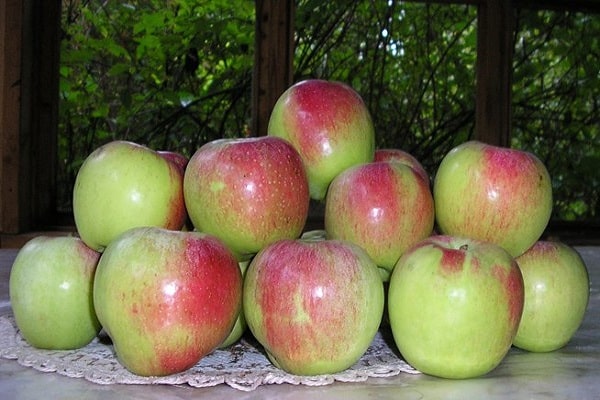
{"label": "whole thick wooden post at the far left edge", "polygon": [[56,216],[60,0],[0,4],[0,232]]}

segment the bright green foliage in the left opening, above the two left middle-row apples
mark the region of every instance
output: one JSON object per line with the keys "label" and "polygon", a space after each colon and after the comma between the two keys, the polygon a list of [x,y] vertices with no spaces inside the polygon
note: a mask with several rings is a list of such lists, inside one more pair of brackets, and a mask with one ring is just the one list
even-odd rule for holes
{"label": "bright green foliage in the left opening, above the two left middle-row apples", "polygon": [[63,0],[59,204],[114,139],[192,154],[250,122],[254,2]]}

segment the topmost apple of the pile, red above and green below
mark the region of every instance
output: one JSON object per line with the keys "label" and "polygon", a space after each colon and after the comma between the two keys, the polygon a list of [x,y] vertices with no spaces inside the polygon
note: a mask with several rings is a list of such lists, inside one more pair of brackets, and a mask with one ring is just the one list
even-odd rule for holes
{"label": "topmost apple of the pile, red above and green below", "polygon": [[323,200],[329,183],[346,168],[373,161],[371,115],[344,83],[309,79],[292,85],[275,103],[267,130],[296,148],[314,200]]}

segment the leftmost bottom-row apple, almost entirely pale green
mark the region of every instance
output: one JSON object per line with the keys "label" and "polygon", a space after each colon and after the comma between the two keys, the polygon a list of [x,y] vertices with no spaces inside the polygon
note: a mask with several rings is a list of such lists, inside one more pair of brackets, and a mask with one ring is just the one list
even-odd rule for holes
{"label": "leftmost bottom-row apple, almost entirely pale green", "polygon": [[72,350],[100,331],[92,303],[100,253],[74,236],[38,236],[18,252],[9,278],[15,322],[33,347]]}

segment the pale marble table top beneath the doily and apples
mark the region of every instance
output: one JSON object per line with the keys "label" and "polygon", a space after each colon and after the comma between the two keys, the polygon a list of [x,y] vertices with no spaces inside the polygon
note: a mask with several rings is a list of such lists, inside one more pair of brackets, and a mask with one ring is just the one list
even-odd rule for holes
{"label": "pale marble table top beneath the doily and apples", "polygon": [[[226,385],[99,385],[45,373],[0,359],[2,399],[600,399],[600,247],[576,247],[586,262],[591,297],[586,317],[569,344],[551,353],[511,349],[491,373],[476,379],[446,380],[424,374],[370,378],[361,383],[310,387],[260,386],[242,392]],[[10,312],[8,279],[16,250],[0,250],[0,315]]]}

